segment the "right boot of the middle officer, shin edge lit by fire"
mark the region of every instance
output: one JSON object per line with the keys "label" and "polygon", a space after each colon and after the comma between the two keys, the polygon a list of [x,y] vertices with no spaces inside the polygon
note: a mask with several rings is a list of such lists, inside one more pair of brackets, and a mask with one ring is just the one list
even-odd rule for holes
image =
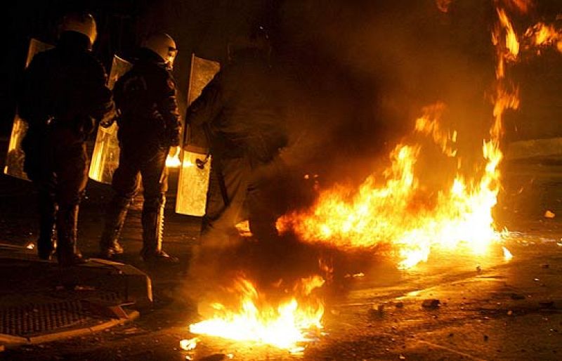
{"label": "right boot of the middle officer, shin edge lit by fire", "polygon": [[150,204],[150,200],[143,206],[143,249],[141,257],[147,263],[176,264],[178,258],[162,251],[162,233],[164,232],[164,203],[162,196],[157,204]]}

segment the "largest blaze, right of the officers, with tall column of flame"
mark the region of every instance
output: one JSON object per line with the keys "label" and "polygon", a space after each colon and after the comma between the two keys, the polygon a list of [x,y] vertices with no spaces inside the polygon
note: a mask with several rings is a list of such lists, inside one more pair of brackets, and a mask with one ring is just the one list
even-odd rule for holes
{"label": "largest blaze, right of the officers, with tall column of flame", "polygon": [[[530,2],[512,1],[520,11]],[[384,182],[374,173],[358,190],[343,185],[319,193],[311,209],[296,211],[277,220],[280,232],[292,229],[306,242],[325,242],[335,247],[390,245],[398,256],[399,268],[412,268],[427,261],[431,251],[469,251],[485,254],[490,244],[500,242],[505,230],[497,230],[492,209],[500,189],[498,166],[503,155],[504,113],[519,106],[518,88],[506,81],[506,65],[518,60],[519,41],[506,11],[497,8],[497,25],[492,41],[497,49],[496,93],[490,138],[483,140],[480,171],[472,178],[459,173],[436,195],[427,194],[416,175],[421,152],[419,144],[398,144],[391,152],[391,165]],[[433,140],[447,157],[457,158],[457,132],[440,126],[443,103],[424,108],[417,119],[417,133]]]}

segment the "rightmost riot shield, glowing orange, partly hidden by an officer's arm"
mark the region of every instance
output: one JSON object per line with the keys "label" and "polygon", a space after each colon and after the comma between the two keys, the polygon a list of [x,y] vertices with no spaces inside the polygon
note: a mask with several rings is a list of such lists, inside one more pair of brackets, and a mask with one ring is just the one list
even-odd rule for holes
{"label": "rightmost riot shield, glowing orange, partly hidden by an officer's arm", "polygon": [[[200,96],[203,88],[213,79],[221,65],[191,55],[191,72],[188,88],[188,105]],[[189,130],[189,129],[188,129]],[[187,143],[189,144],[189,131]],[[203,216],[207,204],[207,190],[209,188],[209,173],[211,162],[207,158],[207,151],[196,147],[182,150],[181,168],[178,178],[178,194],[176,197],[176,213],[189,216]]]}

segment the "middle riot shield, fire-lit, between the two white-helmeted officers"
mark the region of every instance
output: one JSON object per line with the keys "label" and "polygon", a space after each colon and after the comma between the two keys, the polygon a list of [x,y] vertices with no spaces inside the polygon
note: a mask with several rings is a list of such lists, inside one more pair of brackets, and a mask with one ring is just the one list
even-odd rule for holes
{"label": "middle riot shield, fire-lit, between the two white-helmeted officers", "polygon": [[[107,86],[112,89],[115,85],[115,81],[129,69],[131,69],[131,63],[114,55],[110,77],[107,79]],[[116,122],[107,128],[103,126],[98,127],[96,143],[93,145],[89,177],[100,183],[111,184],[113,173],[119,165],[117,128]]]}

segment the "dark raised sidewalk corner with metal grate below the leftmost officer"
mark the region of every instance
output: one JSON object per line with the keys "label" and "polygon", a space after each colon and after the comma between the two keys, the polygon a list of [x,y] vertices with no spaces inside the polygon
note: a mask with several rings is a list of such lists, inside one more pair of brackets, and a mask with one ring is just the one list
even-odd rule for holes
{"label": "dark raised sidewalk corner with metal grate below the leftmost officer", "polygon": [[91,258],[63,269],[33,249],[0,244],[0,346],[99,332],[151,304],[150,277],[131,265]]}

